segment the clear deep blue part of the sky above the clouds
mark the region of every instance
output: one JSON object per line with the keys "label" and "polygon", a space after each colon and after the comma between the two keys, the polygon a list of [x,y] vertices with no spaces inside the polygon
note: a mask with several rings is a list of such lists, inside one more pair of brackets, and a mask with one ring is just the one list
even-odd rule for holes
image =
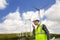
{"label": "clear deep blue part of the sky above the clouds", "polygon": [[34,7],[47,10],[55,2],[56,0],[7,0],[7,7],[3,10],[0,9],[0,22],[2,22],[2,18],[10,12],[15,12],[17,7],[19,7],[19,11],[22,15],[23,12],[36,11]]}

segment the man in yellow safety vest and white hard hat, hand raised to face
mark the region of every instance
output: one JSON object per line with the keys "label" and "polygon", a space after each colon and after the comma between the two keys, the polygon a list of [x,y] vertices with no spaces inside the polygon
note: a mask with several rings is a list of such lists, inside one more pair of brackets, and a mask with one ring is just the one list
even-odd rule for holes
{"label": "man in yellow safety vest and white hard hat, hand raised to face", "polygon": [[49,40],[49,38],[50,38],[49,31],[46,28],[46,26],[44,24],[40,24],[38,19],[33,20],[33,23],[34,23],[34,25],[37,26],[35,28],[35,26],[32,25],[35,40]]}

